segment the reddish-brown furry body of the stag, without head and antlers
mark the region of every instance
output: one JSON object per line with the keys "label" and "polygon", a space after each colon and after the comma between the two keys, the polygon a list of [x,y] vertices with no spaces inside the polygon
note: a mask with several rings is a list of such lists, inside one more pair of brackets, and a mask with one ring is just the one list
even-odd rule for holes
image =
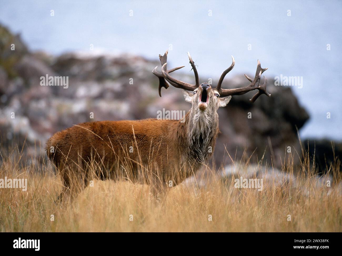
{"label": "reddish-brown furry body of the stag, without head and antlers", "polygon": [[[134,182],[153,181],[154,185],[181,183],[196,173],[212,154],[219,132],[217,114],[216,119],[210,124],[214,127],[193,134],[191,110],[185,122],[158,119],[88,122],[55,133],[47,141],[46,150],[65,186],[60,199],[66,191],[77,194],[94,178],[125,177]],[[90,169],[97,171],[91,175]],[[161,186],[156,187],[159,190]]]}

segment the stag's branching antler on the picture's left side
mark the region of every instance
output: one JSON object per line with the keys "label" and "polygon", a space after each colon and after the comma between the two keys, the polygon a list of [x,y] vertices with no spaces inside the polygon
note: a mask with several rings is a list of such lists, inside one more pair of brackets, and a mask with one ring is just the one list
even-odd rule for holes
{"label": "stag's branching antler on the picture's left side", "polygon": [[159,54],[159,59],[160,59],[160,63],[162,66],[161,73],[157,71],[158,66],[155,67],[154,70],[152,71],[153,74],[155,74],[159,79],[159,88],[158,88],[159,96],[161,97],[161,87],[164,87],[165,89],[169,87],[166,81],[168,81],[172,86],[176,88],[182,88],[182,89],[189,90],[189,91],[195,90],[199,86],[199,79],[198,79],[198,73],[197,73],[195,63],[192,60],[190,54],[188,53],[188,57],[189,57],[189,61],[192,66],[192,69],[194,70],[196,84],[188,84],[188,83],[185,83],[183,81],[180,81],[171,77],[169,73],[175,70],[181,69],[184,66],[167,70],[167,57],[168,57],[168,51],[166,51],[163,56]]}

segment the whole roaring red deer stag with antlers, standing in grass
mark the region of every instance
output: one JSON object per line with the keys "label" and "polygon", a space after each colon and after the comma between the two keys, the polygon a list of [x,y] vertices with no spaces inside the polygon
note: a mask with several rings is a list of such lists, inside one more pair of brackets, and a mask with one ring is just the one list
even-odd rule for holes
{"label": "whole roaring red deer stag with antlers, standing in grass", "polygon": [[[159,55],[161,72],[153,70],[161,87],[169,84],[184,89],[185,100],[192,108],[182,120],[144,119],[136,121],[99,121],[75,125],[55,133],[47,141],[47,155],[59,170],[64,188],[57,198],[62,201],[65,194],[71,197],[88,186],[92,179],[119,177],[132,181],[144,181],[152,185],[152,192],[166,184],[173,186],[195,174],[213,154],[219,133],[219,107],[227,105],[231,95],[242,95],[257,89],[250,100],[254,102],[266,91],[267,80],[259,85],[261,68],[258,60],[257,72],[248,86],[222,89],[225,75],[235,65],[226,69],[213,89],[208,83],[199,83],[194,61],[188,54],[195,73],[195,84],[188,84],[170,76],[182,67],[167,70],[167,54]],[[167,83],[168,82],[168,83]],[[189,92],[190,91],[190,92]],[[209,150],[211,149],[211,150]]]}

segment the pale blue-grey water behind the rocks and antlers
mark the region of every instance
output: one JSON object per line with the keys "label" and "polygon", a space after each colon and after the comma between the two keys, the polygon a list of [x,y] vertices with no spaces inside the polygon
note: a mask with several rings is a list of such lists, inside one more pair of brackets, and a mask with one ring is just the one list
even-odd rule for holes
{"label": "pale blue-grey water behind the rocks and antlers", "polygon": [[260,59],[268,77],[303,77],[303,88],[292,86],[311,116],[302,137],[342,140],[341,1],[1,0],[0,8],[0,22],[21,33],[31,50],[127,52],[157,59],[171,44],[172,67],[188,63],[189,51],[200,76],[214,83],[231,55],[236,65],[230,77],[254,74]]}

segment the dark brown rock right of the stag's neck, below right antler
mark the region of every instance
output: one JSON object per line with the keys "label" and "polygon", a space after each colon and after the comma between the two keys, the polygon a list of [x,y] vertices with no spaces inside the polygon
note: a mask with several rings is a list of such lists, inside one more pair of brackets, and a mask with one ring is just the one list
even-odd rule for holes
{"label": "dark brown rock right of the stag's neck, below right antler", "polygon": [[[237,82],[227,82],[225,88],[248,85],[247,80],[232,80]],[[254,92],[249,92],[233,96],[227,107],[219,110],[219,139],[226,141],[227,151],[231,155],[237,152],[237,156],[245,154],[249,158],[254,152],[253,160],[260,160],[264,155],[265,159],[271,161],[272,157],[275,166],[280,167],[284,157],[289,156],[288,147],[291,147],[292,155],[296,150],[301,152],[296,126],[300,129],[309,116],[289,87],[275,86],[269,79],[267,90],[271,97],[262,95],[250,103]],[[218,158],[223,158],[223,153],[218,152]],[[294,160],[298,164],[300,159],[295,157]]]}

